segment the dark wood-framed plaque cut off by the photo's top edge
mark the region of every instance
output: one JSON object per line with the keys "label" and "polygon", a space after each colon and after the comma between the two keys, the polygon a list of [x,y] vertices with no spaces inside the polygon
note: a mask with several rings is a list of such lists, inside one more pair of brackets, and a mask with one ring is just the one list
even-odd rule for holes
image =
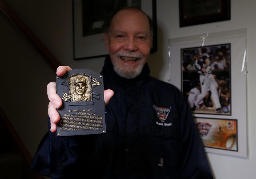
{"label": "dark wood-framed plaque cut off by the photo's top edge", "polygon": [[230,0],[179,0],[179,26],[230,20]]}

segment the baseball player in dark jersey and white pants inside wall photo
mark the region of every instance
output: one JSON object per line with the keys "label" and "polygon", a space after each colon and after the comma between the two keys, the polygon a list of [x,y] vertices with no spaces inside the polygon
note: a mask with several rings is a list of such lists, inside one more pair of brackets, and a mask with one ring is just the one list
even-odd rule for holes
{"label": "baseball player in dark jersey and white pants inside wall photo", "polygon": [[209,55],[207,53],[203,53],[200,56],[199,52],[196,51],[194,58],[196,59],[195,68],[197,69],[197,73],[199,74],[199,80],[201,83],[201,94],[198,96],[191,110],[194,111],[196,109],[199,102],[206,97],[208,89],[210,89],[211,96],[213,97],[213,101],[216,106],[215,113],[221,113],[221,104],[219,103],[219,96],[217,92],[218,85],[211,74]]}

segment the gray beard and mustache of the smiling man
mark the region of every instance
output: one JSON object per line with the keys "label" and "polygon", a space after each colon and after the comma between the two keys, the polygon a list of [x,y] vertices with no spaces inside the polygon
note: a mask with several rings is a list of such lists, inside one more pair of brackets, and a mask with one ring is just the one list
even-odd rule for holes
{"label": "gray beard and mustache of the smiling man", "polygon": [[[116,59],[119,58],[119,56],[132,56],[132,57],[135,57],[135,58],[144,58],[144,56],[142,54],[137,54],[137,53],[134,53],[134,52],[120,52],[118,51],[117,53],[115,53],[115,57]],[[114,60],[114,71],[121,77],[123,78],[126,78],[126,79],[133,79],[137,76],[139,76],[139,74],[141,74],[142,72],[142,69],[143,69],[143,62],[142,60],[139,61],[139,65],[138,67],[135,69],[135,70],[132,70],[132,66],[125,66],[123,68],[123,70],[121,70],[118,66],[118,62],[117,60]]]}

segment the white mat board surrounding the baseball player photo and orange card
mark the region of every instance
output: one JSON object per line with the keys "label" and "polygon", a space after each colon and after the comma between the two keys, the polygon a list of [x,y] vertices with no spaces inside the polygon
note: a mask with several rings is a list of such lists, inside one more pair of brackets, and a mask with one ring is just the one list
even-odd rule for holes
{"label": "white mat board surrounding the baseball player photo and orange card", "polygon": [[[203,37],[205,37],[203,39]],[[247,28],[212,32],[205,34],[191,35],[185,37],[168,39],[169,48],[169,83],[175,85],[182,92],[182,53],[181,49],[213,47],[214,45],[230,44],[230,95],[231,113],[218,115],[210,113],[192,113],[194,119],[214,120],[236,120],[237,125],[237,147],[233,150],[225,148],[206,146],[205,151],[237,157],[249,157],[247,140],[247,60],[246,60],[246,38]],[[209,123],[209,121],[201,121]],[[223,147],[223,146],[222,146]],[[228,148],[228,147],[226,147]]]}

